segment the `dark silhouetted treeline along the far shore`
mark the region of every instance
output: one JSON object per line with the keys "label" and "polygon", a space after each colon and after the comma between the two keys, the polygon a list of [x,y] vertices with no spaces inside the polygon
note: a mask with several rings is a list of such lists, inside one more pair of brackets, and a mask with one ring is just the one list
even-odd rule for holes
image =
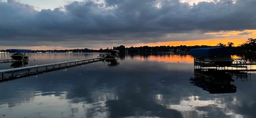
{"label": "dark silhouetted treeline along the far shore", "polygon": [[[227,44],[218,43],[216,46],[208,46],[208,45],[194,45],[194,46],[140,46],[140,47],[125,47],[124,45],[120,45],[118,47],[106,49],[64,49],[64,50],[32,50],[32,53],[88,53],[88,52],[97,52],[97,53],[106,53],[111,49],[119,50],[120,53],[161,53],[167,51],[173,51],[177,53],[188,53],[190,49],[194,48],[206,48],[206,47],[232,47],[236,48],[237,53],[256,53],[256,39],[250,38],[245,43],[240,44],[237,47],[233,46],[234,43],[228,42]],[[5,50],[0,50],[0,52],[4,53]]]}

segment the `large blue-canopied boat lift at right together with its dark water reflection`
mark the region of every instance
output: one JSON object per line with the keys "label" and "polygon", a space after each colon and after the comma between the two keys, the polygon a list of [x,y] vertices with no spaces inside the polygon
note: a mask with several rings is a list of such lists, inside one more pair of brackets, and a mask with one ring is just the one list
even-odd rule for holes
{"label": "large blue-canopied boat lift at right together with its dark water reflection", "polygon": [[236,86],[231,84],[232,77],[247,80],[247,72],[255,70],[247,69],[250,63],[246,59],[232,59],[235,53],[232,47],[190,49],[194,57],[194,77],[190,77],[190,83],[210,93],[236,92]]}

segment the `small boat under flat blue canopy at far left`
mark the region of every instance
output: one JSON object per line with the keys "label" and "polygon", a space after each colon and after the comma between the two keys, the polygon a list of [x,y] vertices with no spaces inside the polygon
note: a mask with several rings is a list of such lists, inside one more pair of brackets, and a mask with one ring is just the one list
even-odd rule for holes
{"label": "small boat under flat blue canopy at far left", "polygon": [[6,49],[6,52],[14,53],[10,57],[14,60],[28,60],[28,55],[25,52],[30,52],[30,49]]}

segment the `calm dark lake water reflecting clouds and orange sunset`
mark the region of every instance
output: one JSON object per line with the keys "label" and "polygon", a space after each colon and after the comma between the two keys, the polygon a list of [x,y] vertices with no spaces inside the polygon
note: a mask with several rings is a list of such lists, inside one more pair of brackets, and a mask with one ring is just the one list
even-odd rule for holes
{"label": "calm dark lake water reflecting clouds and orange sunset", "polygon": [[[0,54],[1,59],[10,59]],[[29,53],[23,66],[99,53]],[[0,83],[0,118],[255,118],[256,74],[201,75],[190,55],[120,55]],[[10,69],[12,63],[0,63]],[[21,65],[22,66],[22,65]],[[214,78],[214,80],[213,80]]]}

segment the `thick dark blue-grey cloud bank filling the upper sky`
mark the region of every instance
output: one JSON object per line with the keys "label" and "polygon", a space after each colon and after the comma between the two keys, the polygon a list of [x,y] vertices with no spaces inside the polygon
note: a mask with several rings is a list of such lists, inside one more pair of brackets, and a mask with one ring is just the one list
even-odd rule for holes
{"label": "thick dark blue-grey cloud bank filling the upper sky", "polygon": [[0,2],[0,45],[8,45],[10,39],[62,41],[75,38],[86,41],[142,39],[141,43],[150,43],[166,41],[159,39],[166,33],[256,29],[255,0],[199,2],[193,6],[179,0],[104,2],[86,0],[41,11],[16,0]]}

